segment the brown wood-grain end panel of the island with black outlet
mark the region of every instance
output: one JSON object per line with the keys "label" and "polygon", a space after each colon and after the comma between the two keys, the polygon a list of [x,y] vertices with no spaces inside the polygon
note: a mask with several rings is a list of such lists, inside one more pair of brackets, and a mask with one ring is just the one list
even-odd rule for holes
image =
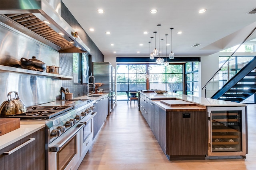
{"label": "brown wood-grain end panel of the island with black outlet", "polygon": [[168,155],[207,154],[206,111],[167,113]]}

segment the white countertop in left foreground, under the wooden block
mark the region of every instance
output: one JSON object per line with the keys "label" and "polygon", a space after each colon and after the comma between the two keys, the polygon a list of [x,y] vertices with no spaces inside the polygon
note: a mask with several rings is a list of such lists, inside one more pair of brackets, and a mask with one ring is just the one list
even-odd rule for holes
{"label": "white countertop in left foreground, under the wooden block", "polygon": [[45,124],[20,125],[20,128],[0,136],[0,149],[42,129]]}

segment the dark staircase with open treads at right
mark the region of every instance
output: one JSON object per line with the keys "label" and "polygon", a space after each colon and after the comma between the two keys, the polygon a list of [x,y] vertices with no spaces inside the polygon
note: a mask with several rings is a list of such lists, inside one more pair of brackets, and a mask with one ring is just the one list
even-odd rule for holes
{"label": "dark staircase with open treads at right", "polygon": [[211,98],[242,102],[256,93],[256,56]]}

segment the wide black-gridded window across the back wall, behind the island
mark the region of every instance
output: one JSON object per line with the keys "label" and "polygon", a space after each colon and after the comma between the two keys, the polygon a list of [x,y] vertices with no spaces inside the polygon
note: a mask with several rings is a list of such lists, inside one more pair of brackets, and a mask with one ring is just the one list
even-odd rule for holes
{"label": "wide black-gridded window across the back wall, behind the island", "polygon": [[[126,100],[129,90],[146,90],[147,64],[117,64],[116,92],[117,100]],[[160,89],[183,93],[183,64],[164,65],[150,64],[150,89]]]}

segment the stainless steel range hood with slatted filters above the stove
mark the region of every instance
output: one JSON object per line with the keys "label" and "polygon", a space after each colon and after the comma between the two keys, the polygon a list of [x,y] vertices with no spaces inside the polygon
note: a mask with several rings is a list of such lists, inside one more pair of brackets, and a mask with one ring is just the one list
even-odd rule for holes
{"label": "stainless steel range hood with slatted filters above the stove", "polygon": [[[60,53],[90,53],[90,49],[79,35],[74,36],[76,30],[54,10],[49,2],[53,1],[0,0],[0,21]],[[57,8],[60,8],[60,0],[54,0],[55,4],[56,2]]]}

